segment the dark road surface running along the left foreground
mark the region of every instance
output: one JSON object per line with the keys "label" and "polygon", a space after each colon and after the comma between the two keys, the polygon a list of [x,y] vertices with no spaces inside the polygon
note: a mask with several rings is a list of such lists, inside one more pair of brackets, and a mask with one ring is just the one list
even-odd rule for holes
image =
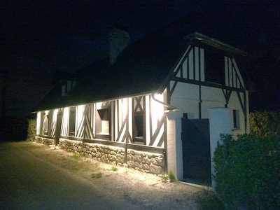
{"label": "dark road surface running along the left foreground", "polygon": [[0,209],[139,209],[13,143],[0,144],[0,190]]}

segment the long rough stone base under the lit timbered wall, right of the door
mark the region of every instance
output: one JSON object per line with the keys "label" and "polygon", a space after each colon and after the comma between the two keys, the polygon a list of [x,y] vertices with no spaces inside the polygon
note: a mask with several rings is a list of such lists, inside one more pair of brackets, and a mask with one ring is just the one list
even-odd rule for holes
{"label": "long rough stone base under the lit timbered wall, right of the door", "polygon": [[[64,151],[78,153],[87,158],[111,165],[130,167],[141,172],[151,174],[162,174],[164,168],[164,157],[158,153],[146,153],[117,146],[102,144],[82,143],[80,141],[59,140],[59,147]],[[127,160],[127,162],[126,162]]]}

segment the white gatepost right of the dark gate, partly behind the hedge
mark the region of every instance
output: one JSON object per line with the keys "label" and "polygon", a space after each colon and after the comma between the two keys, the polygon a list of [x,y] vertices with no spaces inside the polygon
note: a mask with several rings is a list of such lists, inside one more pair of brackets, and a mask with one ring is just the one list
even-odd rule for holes
{"label": "white gatepost right of the dark gate, partly behind the hedge", "polygon": [[215,190],[216,181],[213,175],[214,171],[214,151],[218,145],[223,144],[220,141],[221,134],[231,134],[231,116],[228,108],[214,108],[209,109],[209,129],[210,129],[210,153],[211,153],[211,174],[212,174],[212,188]]}

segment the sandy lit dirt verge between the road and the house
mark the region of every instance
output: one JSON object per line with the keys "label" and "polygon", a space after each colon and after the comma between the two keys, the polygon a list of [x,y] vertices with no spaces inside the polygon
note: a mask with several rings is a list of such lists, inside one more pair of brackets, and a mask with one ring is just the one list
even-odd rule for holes
{"label": "sandy lit dirt verge between the road and the house", "polygon": [[103,190],[104,196],[118,195],[143,209],[197,209],[195,193],[201,189],[186,183],[165,182],[153,174],[113,167],[60,149],[50,149],[43,144],[33,142],[14,144],[37,158],[94,183]]}

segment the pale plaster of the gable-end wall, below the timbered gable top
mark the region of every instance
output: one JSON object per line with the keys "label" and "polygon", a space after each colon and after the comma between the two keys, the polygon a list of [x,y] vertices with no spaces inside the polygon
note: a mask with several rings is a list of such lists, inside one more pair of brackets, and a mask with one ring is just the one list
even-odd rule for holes
{"label": "pale plaster of the gable-end wall, below the timbered gable top", "polygon": [[[174,83],[171,83],[173,85]],[[199,118],[199,103],[200,103],[200,89],[199,85],[178,83],[171,97],[171,104],[179,109],[182,113],[188,113],[188,118]],[[241,100],[243,102],[244,93],[240,93]],[[246,106],[247,106],[247,119],[248,119],[248,92],[246,92]],[[225,107],[225,96],[223,90],[217,87],[201,86],[201,111],[202,118],[209,118],[209,110],[211,108]],[[245,126],[245,116],[239,102],[237,92],[232,91],[230,100],[228,102],[228,108],[231,110],[230,122],[232,128],[232,134],[244,134],[249,132],[249,122]],[[233,129],[233,113],[232,110],[239,110],[239,125],[240,129]],[[247,127],[247,130],[246,130]]]}

